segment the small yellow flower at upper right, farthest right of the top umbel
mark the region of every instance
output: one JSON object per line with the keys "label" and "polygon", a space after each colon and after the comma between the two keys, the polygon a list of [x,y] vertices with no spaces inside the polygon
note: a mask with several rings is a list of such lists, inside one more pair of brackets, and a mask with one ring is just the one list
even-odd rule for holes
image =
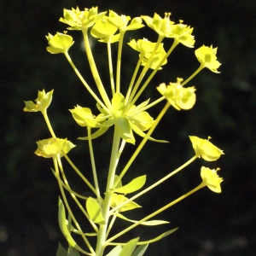
{"label": "small yellow flower at upper right, farthest right of the top umbel", "polygon": [[209,68],[214,73],[219,73],[217,69],[221,64],[217,61],[216,55],[217,48],[212,48],[212,45],[210,47],[203,45],[195,50],[195,56],[201,65]]}

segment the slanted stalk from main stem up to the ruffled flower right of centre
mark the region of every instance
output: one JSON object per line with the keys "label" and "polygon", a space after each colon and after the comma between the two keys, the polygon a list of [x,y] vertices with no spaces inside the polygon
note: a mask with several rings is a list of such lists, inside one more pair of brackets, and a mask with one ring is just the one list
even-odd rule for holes
{"label": "slanted stalk from main stem up to the ruffled flower right of centre", "polygon": [[120,173],[119,177],[117,178],[117,180],[113,184],[113,189],[116,187],[116,185],[122,179],[122,177],[124,177],[125,173],[128,171],[128,169],[130,168],[130,166],[133,163],[133,161],[137,158],[137,155],[143,149],[143,146],[145,145],[145,143],[147,143],[148,137],[150,137],[150,135],[153,133],[155,127],[159,124],[160,119],[162,119],[162,117],[164,116],[164,114],[166,113],[166,111],[167,111],[167,109],[169,107],[170,107],[170,103],[166,102],[166,106],[161,110],[161,112],[159,113],[157,119],[154,120],[154,125],[152,125],[150,127],[150,129],[148,130],[146,136],[143,137],[143,141],[139,144],[139,146],[137,147],[136,151],[131,155],[131,159],[128,161],[128,163],[126,164],[126,166],[124,167],[124,169]]}

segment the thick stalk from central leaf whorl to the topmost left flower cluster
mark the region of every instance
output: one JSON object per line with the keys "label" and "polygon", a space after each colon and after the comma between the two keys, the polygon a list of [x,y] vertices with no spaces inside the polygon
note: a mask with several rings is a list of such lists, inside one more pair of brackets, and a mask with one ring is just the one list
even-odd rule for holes
{"label": "thick stalk from central leaf whorl to the topmost left flower cluster", "polygon": [[92,55],[92,52],[90,49],[90,43],[89,43],[87,31],[88,31],[88,27],[86,27],[82,30],[83,35],[84,35],[84,47],[85,47],[85,52],[86,52],[86,55],[87,55],[87,58],[88,58],[88,61],[90,64],[90,70],[91,70],[92,76],[96,82],[97,88],[102,96],[103,102],[105,102],[106,106],[110,109],[111,102],[108,99],[107,92],[102,84],[102,80],[101,80],[98,70],[96,68],[96,63],[94,61],[94,58],[93,58],[93,55]]}

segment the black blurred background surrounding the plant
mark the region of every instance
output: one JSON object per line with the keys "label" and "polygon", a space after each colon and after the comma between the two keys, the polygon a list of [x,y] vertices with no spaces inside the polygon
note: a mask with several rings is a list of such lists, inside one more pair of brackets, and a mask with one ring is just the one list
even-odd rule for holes
{"label": "black blurred background surrounding the plant", "polygon": [[[133,218],[141,218],[169,201],[195,188],[201,182],[200,167],[220,167],[224,177],[221,194],[201,189],[195,195],[160,214],[170,221],[164,227],[138,228],[129,239],[141,240],[160,235],[165,230],[179,229],[148,247],[146,255],[177,256],[246,256],[256,251],[255,229],[255,153],[254,132],[256,110],[256,2],[253,0],[224,1],[35,1],[2,0],[0,3],[0,91],[1,91],[1,171],[0,171],[0,255],[55,255],[58,242],[67,246],[57,224],[59,190],[50,171],[51,160],[38,158],[33,152],[35,142],[49,137],[39,113],[24,113],[23,101],[36,98],[38,90],[55,89],[49,108],[49,118],[58,137],[68,137],[77,144],[70,157],[82,172],[91,178],[88,146],[76,140],[85,131],[73,121],[68,108],[76,104],[96,110],[91,97],[73,73],[64,55],[50,55],[44,35],[62,32],[67,26],[58,22],[62,9],[99,6],[100,11],[113,9],[118,14],[153,16],[172,12],[172,20],[184,20],[195,27],[195,49],[202,44],[218,46],[220,74],[203,70],[188,85],[196,86],[195,108],[186,112],[170,109],[154,137],[169,144],[148,143],[131,166],[125,182],[147,173],[147,184],[163,177],[194,154],[189,135],[212,137],[212,143],[224,149],[217,162],[197,160],[183,172],[154,189],[137,202],[143,209]],[[70,32],[76,41],[70,50],[73,61],[84,78],[95,86],[88,72],[80,32]],[[143,28],[127,32],[130,38],[155,41],[156,33]],[[168,49],[172,40],[165,40]],[[96,43],[96,41],[94,41]],[[105,68],[105,45],[94,44],[97,66],[102,77]],[[113,45],[113,53],[114,53]],[[137,54],[126,47],[123,55],[122,88],[127,86],[136,65]],[[194,49],[178,45],[166,67],[149,84],[145,99],[159,95],[154,89],[162,82],[174,82],[176,77],[189,77],[199,66]],[[108,79],[106,79],[108,84]],[[142,99],[143,100],[143,99]],[[154,117],[163,107],[150,109]],[[94,111],[96,113],[96,111]],[[109,131],[110,136],[112,131]],[[111,139],[105,135],[95,141],[96,160],[106,178]],[[137,143],[140,138],[137,137]],[[125,148],[124,165],[134,146]],[[64,161],[65,162],[65,161]],[[70,167],[65,171],[73,188],[88,195],[88,189],[77,181]],[[131,212],[132,213],[132,212]],[[131,217],[128,214],[127,216]],[[82,222],[83,223],[83,222]],[[84,223],[83,223],[84,224]],[[122,223],[120,223],[122,226]]]}

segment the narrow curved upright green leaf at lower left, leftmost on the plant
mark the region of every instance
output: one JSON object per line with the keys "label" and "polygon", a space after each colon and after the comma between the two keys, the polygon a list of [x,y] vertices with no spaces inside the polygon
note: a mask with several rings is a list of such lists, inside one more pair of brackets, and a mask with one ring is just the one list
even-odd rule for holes
{"label": "narrow curved upright green leaf at lower left, leftmost on the plant", "polygon": [[66,213],[65,213],[65,208],[64,205],[61,201],[61,198],[59,198],[59,213],[58,213],[58,218],[59,218],[59,225],[61,228],[61,232],[62,234],[66,237],[68,244],[72,247],[75,247],[81,251],[83,251],[78,245],[77,243],[73,240],[73,237],[71,236],[71,234],[69,233],[69,231],[67,230],[67,224],[66,224]]}

